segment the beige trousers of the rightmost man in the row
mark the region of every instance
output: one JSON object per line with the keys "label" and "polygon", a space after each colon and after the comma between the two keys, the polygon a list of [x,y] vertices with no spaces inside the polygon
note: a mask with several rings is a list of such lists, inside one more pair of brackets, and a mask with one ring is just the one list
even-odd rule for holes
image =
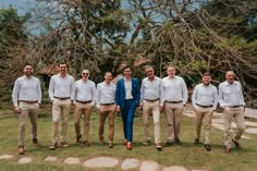
{"label": "beige trousers of the rightmost man in the row", "polygon": [[223,124],[224,124],[224,145],[231,148],[231,123],[234,119],[236,124],[236,131],[234,134],[234,139],[237,142],[244,132],[244,107],[230,108],[225,107],[223,110]]}

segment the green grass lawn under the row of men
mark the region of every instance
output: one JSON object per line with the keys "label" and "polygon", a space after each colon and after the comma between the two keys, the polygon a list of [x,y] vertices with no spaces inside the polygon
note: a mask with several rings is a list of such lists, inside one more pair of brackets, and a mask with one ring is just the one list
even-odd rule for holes
{"label": "green grass lawn under the row of men", "polygon": [[[85,147],[83,144],[75,144],[75,131],[73,126],[73,117],[70,115],[68,142],[69,148],[59,147],[56,150],[49,150],[51,145],[51,112],[50,108],[40,110],[38,120],[38,139],[42,145],[39,148],[34,148],[30,139],[30,123],[27,122],[26,126],[26,142],[25,149],[27,157],[33,158],[29,164],[19,164],[16,162],[20,156],[17,155],[17,114],[10,110],[0,110],[0,155],[9,154],[14,155],[15,158],[11,160],[0,160],[0,170],[49,170],[49,171],[70,171],[70,170],[88,170],[81,166],[68,166],[62,161],[66,157],[78,157],[81,161],[94,157],[106,156],[114,157],[118,159],[136,158],[139,160],[155,160],[161,166],[183,166],[187,169],[203,169],[209,171],[256,171],[257,170],[257,135],[245,134],[250,136],[252,139],[243,139],[243,149],[237,150],[232,148],[231,154],[224,154],[223,133],[220,130],[212,127],[211,130],[211,151],[206,151],[204,145],[195,146],[193,144],[195,138],[195,123],[192,118],[183,118],[181,127],[182,145],[173,145],[163,148],[163,151],[157,151],[155,145],[143,146],[144,139],[142,115],[136,114],[134,120],[134,143],[133,150],[127,150],[123,142],[122,120],[121,117],[115,118],[115,136],[114,148],[110,149],[108,146],[98,144],[98,124],[99,117],[97,113],[91,114],[89,142],[90,146]],[[82,126],[83,127],[83,126]],[[154,127],[152,139],[154,139]],[[105,129],[106,139],[108,138],[108,124]],[[161,136],[162,142],[166,142],[166,118],[161,114]],[[107,139],[108,142],[108,139]],[[201,142],[204,139],[201,138]],[[50,163],[44,161],[48,156],[57,156],[58,162]],[[120,170],[117,169],[102,169],[102,170]]]}

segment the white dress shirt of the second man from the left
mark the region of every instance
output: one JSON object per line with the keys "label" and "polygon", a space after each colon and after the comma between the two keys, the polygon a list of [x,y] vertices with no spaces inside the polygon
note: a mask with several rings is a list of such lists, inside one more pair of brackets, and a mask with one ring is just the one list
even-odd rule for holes
{"label": "white dress shirt of the second man from the left", "polygon": [[49,97],[53,100],[53,97],[59,98],[71,98],[73,100],[74,97],[74,77],[66,74],[62,77],[60,74],[56,74],[50,80],[49,85]]}

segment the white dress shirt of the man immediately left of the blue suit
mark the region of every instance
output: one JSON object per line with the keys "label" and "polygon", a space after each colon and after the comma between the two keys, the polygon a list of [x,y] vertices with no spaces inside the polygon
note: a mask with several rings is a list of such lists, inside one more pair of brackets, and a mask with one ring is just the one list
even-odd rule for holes
{"label": "white dress shirt of the man immediately left of the blue suit", "polygon": [[106,82],[99,83],[96,90],[96,106],[101,103],[114,103],[115,102],[115,88],[112,83],[109,85]]}

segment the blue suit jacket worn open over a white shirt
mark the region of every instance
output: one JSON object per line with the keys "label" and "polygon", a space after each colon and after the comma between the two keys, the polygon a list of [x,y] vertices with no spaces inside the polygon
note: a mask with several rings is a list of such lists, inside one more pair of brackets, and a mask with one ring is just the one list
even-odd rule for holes
{"label": "blue suit jacket worn open over a white shirt", "polygon": [[[140,87],[137,78],[132,77],[132,96],[135,101],[135,106],[138,106],[140,99]],[[124,109],[125,106],[125,83],[124,77],[120,78],[117,82],[117,90],[115,90],[115,103],[120,106],[121,109]]]}

